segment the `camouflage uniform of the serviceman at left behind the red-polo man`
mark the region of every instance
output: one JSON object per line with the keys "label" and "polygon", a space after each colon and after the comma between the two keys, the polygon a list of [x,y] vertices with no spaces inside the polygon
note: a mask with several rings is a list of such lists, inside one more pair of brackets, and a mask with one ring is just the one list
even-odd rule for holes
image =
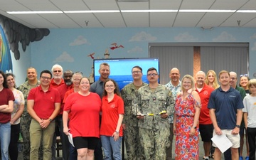
{"label": "camouflage uniform of the serviceman at left behind the red-polo man", "polygon": [[[40,81],[36,83],[36,86],[40,85]],[[23,93],[25,105],[24,105],[24,111],[21,116],[21,136],[23,138],[23,160],[29,160],[30,155],[30,139],[29,139],[29,126],[31,124],[31,116],[28,114],[27,110],[27,98],[28,93],[32,89],[28,85],[28,81],[24,82],[22,85],[17,87],[17,90],[20,90]],[[43,149],[41,149],[40,153],[41,159],[43,159]]]}

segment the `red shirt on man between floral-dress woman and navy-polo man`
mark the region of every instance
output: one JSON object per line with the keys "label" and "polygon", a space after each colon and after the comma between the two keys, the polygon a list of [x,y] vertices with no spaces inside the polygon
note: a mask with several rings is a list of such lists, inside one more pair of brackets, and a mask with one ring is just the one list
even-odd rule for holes
{"label": "red shirt on man between floral-dress woman and navy-polo man", "polygon": [[201,111],[199,116],[199,124],[212,124],[210,120],[210,114],[209,109],[207,108],[208,102],[210,99],[210,93],[213,92],[214,88],[210,87],[209,85],[206,85],[206,83],[203,85],[203,88],[201,92],[199,92],[196,89],[196,92],[198,92],[200,99],[201,99]]}

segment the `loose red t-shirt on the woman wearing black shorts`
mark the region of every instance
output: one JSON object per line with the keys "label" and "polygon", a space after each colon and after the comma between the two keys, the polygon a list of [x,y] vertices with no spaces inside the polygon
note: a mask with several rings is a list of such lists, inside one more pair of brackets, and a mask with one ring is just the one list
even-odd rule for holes
{"label": "loose red t-shirt on the woman wearing black shorts", "polygon": [[65,100],[64,111],[70,110],[70,133],[73,137],[100,137],[100,96],[94,92],[82,96],[78,92]]}

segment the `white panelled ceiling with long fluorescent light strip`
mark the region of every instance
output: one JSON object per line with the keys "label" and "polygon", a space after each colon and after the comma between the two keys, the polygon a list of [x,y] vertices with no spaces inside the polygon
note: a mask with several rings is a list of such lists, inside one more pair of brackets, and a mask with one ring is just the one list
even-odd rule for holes
{"label": "white panelled ceiling with long fluorescent light strip", "polygon": [[[120,0],[119,0],[120,1]],[[124,1],[124,0],[123,0]],[[141,9],[255,10],[255,0],[0,0],[0,14],[30,28],[256,27],[256,13],[7,14],[6,11]],[[86,26],[85,21],[89,21]]]}

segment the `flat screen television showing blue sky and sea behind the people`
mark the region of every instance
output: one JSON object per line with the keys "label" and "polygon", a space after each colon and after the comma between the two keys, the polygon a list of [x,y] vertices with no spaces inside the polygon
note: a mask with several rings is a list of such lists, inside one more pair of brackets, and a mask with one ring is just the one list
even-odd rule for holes
{"label": "flat screen television showing blue sky and sea behind the people", "polygon": [[158,58],[113,58],[113,59],[94,59],[94,80],[97,81],[100,78],[100,64],[108,63],[110,65],[110,77],[115,80],[119,85],[119,89],[133,81],[132,68],[135,65],[139,65],[142,68],[142,81],[149,83],[146,79],[146,71],[149,68],[156,68],[159,73],[159,59]]}

